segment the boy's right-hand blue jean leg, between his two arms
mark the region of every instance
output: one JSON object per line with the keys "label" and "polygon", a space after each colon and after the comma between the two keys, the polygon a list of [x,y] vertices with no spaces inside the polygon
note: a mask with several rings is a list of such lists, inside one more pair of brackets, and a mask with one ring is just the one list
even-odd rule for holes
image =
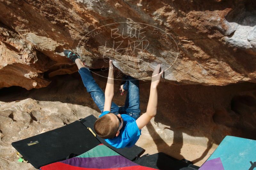
{"label": "boy's right-hand blue jean leg, between his two arms", "polygon": [[140,88],[139,80],[132,78],[131,76],[127,77],[129,81],[128,91],[126,94],[126,99],[124,103],[124,109],[126,114],[137,119],[140,117]]}

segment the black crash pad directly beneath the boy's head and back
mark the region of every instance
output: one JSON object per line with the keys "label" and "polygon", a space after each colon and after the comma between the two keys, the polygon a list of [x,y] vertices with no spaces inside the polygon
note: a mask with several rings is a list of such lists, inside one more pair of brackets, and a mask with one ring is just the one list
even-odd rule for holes
{"label": "black crash pad directly beneath the boy's head and back", "polygon": [[[85,117],[84,119],[81,119],[81,123],[83,123],[86,127],[90,127],[92,129],[92,131],[96,134],[95,130],[94,130],[94,122],[97,120],[97,118],[93,115],[90,115],[88,117]],[[115,148],[111,145],[109,145],[103,138],[100,138],[99,136],[96,136],[97,139],[99,139],[99,141],[108,146],[109,148],[111,148],[112,150],[116,151],[117,153],[119,153],[120,155],[124,156],[125,158],[129,159],[129,160],[136,160],[137,158],[139,158],[139,156],[145,152],[145,150],[139,146],[132,146],[131,148]]]}

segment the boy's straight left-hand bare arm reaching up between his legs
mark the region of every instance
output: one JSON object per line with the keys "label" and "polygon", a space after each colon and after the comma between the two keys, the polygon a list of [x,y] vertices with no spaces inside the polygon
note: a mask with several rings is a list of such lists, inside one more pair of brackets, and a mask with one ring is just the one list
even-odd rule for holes
{"label": "boy's straight left-hand bare arm reaching up between his legs", "polygon": [[110,111],[112,99],[114,97],[114,66],[109,59],[108,81],[105,89],[105,103],[103,111]]}

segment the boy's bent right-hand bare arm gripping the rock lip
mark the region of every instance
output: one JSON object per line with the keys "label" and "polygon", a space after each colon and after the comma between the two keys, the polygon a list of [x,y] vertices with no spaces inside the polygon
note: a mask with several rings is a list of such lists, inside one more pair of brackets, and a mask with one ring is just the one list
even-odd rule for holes
{"label": "boy's bent right-hand bare arm gripping the rock lip", "polygon": [[149,94],[149,100],[148,100],[148,107],[146,113],[141,115],[137,120],[136,123],[139,127],[139,129],[142,129],[148,122],[156,116],[156,108],[157,108],[157,86],[160,82],[161,76],[164,71],[160,72],[160,64],[156,66],[156,69],[154,70],[152,74],[152,81],[150,86],[150,94]]}

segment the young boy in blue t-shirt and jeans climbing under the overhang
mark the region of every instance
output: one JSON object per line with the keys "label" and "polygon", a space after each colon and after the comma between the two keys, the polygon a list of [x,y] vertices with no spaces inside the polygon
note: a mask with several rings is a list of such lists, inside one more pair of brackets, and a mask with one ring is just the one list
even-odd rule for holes
{"label": "young boy in blue t-shirt and jeans climbing under the overhang", "polygon": [[90,70],[80,60],[80,56],[69,50],[64,50],[64,54],[76,63],[85,88],[101,111],[99,119],[94,124],[97,135],[116,148],[132,147],[139,139],[141,129],[156,115],[157,86],[164,72],[160,72],[160,64],[156,66],[152,74],[147,111],[140,116],[138,80],[127,76],[126,81],[121,85],[122,92],[127,91],[125,104],[123,107],[119,107],[112,102],[114,96],[114,66],[112,60],[109,60],[108,81],[104,95],[93,79]]}

